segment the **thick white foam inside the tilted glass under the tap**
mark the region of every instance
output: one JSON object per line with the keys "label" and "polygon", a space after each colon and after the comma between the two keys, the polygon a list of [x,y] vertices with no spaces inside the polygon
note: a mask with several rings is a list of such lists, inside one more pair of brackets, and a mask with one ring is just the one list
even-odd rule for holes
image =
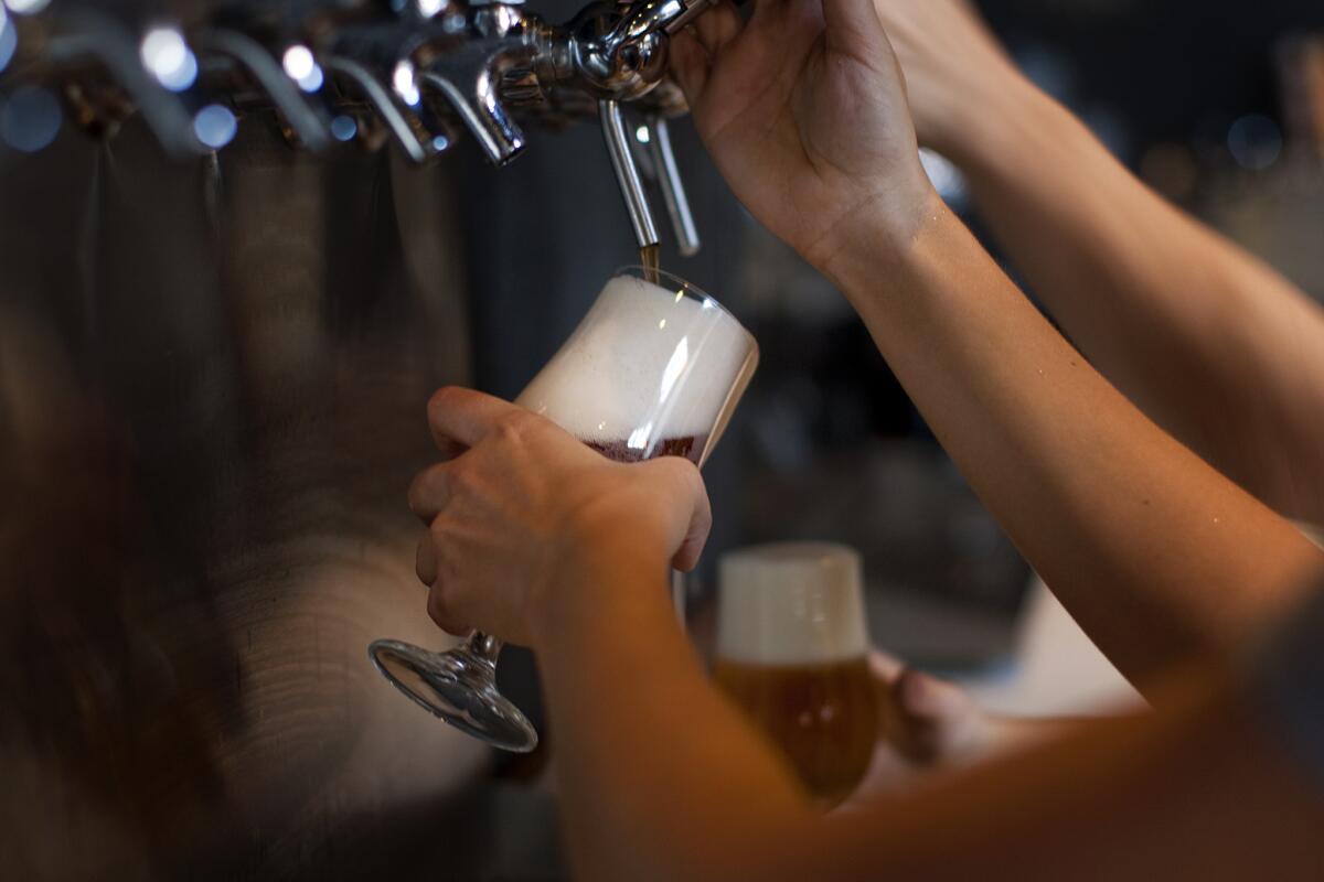
{"label": "thick white foam inside the tilted glass under the tap", "polygon": [[706,435],[751,346],[715,301],[616,276],[518,403],[587,442]]}

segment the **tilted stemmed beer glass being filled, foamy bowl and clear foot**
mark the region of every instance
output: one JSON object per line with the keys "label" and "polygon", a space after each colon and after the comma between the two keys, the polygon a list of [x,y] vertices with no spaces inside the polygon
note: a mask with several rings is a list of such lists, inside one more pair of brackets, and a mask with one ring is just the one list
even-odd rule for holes
{"label": "tilted stemmed beer glass being filled, foamy bowl and clear foot", "polygon": [[[671,455],[702,465],[757,364],[753,337],[716,300],[670,274],[629,267],[515,403],[610,459]],[[538,733],[496,690],[500,647],[474,632],[450,652],[376,640],[368,655],[400,692],[457,729],[530,751]]]}

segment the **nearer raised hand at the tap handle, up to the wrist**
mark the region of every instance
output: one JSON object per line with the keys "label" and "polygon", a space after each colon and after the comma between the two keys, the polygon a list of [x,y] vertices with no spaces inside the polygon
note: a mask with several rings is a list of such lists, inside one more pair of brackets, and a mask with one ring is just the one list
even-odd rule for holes
{"label": "nearer raised hand at the tap handle, up to the wrist", "polygon": [[732,190],[820,270],[862,218],[904,238],[937,198],[871,0],[757,0],[748,22],[722,0],[671,63]]}

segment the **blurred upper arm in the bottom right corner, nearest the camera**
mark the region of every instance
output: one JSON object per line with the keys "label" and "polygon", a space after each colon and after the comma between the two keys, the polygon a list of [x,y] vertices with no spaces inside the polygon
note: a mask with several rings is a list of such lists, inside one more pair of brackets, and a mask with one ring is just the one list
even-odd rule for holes
{"label": "blurred upper arm in the bottom right corner, nearest the camera", "polygon": [[989,867],[1014,879],[1308,878],[1324,801],[1303,767],[1225,673],[1194,666],[1162,693],[1153,713],[1082,723],[843,819],[821,848],[846,867],[816,878],[978,878]]}

